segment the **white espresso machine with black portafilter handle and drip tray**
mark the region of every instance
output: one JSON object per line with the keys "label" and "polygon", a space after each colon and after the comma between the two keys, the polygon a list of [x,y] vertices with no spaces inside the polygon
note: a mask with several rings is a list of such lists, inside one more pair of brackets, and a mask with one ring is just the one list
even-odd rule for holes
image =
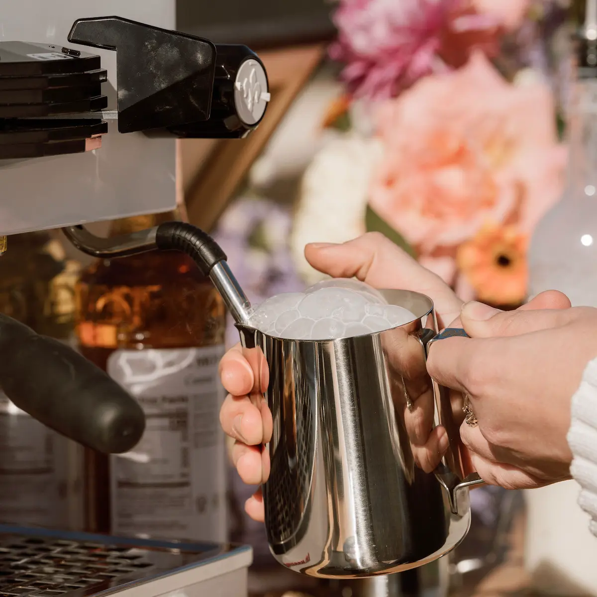
{"label": "white espresso machine with black portafilter handle and drip tray", "polygon": [[[270,99],[259,57],[176,32],[176,10],[4,2],[0,253],[15,233],[170,211],[177,139],[240,139],[259,125]],[[143,411],[103,371],[10,318],[0,330],[0,386],[14,404],[106,454],[137,444]],[[248,546],[0,525],[2,595],[237,597],[251,560]]]}

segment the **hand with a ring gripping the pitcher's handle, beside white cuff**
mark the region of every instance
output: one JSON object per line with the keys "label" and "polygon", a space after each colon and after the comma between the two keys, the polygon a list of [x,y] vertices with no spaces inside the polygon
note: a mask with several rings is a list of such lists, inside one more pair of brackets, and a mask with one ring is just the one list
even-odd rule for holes
{"label": "hand with a ring gripping the pitcher's handle, beside white cuff", "polygon": [[508,489],[570,478],[571,398],[597,355],[597,309],[502,313],[469,303],[461,321],[471,338],[435,343],[427,369],[470,397],[479,424],[464,423],[460,435],[481,478]]}

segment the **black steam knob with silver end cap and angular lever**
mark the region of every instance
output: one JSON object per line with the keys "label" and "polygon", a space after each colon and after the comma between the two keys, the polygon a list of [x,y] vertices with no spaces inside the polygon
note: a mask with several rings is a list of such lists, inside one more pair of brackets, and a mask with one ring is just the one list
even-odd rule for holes
{"label": "black steam knob with silver end cap and angular lever", "polygon": [[244,45],[216,45],[121,17],[75,21],[68,39],[116,51],[121,133],[238,138],[266,112],[266,70]]}

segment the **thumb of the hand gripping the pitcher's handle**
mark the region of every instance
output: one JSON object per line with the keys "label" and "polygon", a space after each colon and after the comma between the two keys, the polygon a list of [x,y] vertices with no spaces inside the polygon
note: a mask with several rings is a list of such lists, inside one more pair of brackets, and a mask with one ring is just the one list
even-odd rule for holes
{"label": "thumb of the hand gripping the pitcher's handle", "polygon": [[500,311],[482,303],[466,303],[460,312],[464,331],[472,338],[518,336],[559,327],[570,320],[569,309]]}

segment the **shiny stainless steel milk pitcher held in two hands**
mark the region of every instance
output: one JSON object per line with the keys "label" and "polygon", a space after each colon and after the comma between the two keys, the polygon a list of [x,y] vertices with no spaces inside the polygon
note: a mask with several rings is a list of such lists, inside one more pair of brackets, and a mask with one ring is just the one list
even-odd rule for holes
{"label": "shiny stainless steel milk pitcher held in two hands", "polygon": [[[448,553],[469,530],[468,487],[481,480],[460,442],[461,408],[427,374],[426,350],[439,338],[432,300],[381,292],[417,319],[329,341],[237,324],[244,350],[262,351],[269,367],[271,470],[262,489],[270,550],[310,576],[407,570]],[[415,463],[405,408],[432,409],[447,429],[450,448],[433,473]]]}

